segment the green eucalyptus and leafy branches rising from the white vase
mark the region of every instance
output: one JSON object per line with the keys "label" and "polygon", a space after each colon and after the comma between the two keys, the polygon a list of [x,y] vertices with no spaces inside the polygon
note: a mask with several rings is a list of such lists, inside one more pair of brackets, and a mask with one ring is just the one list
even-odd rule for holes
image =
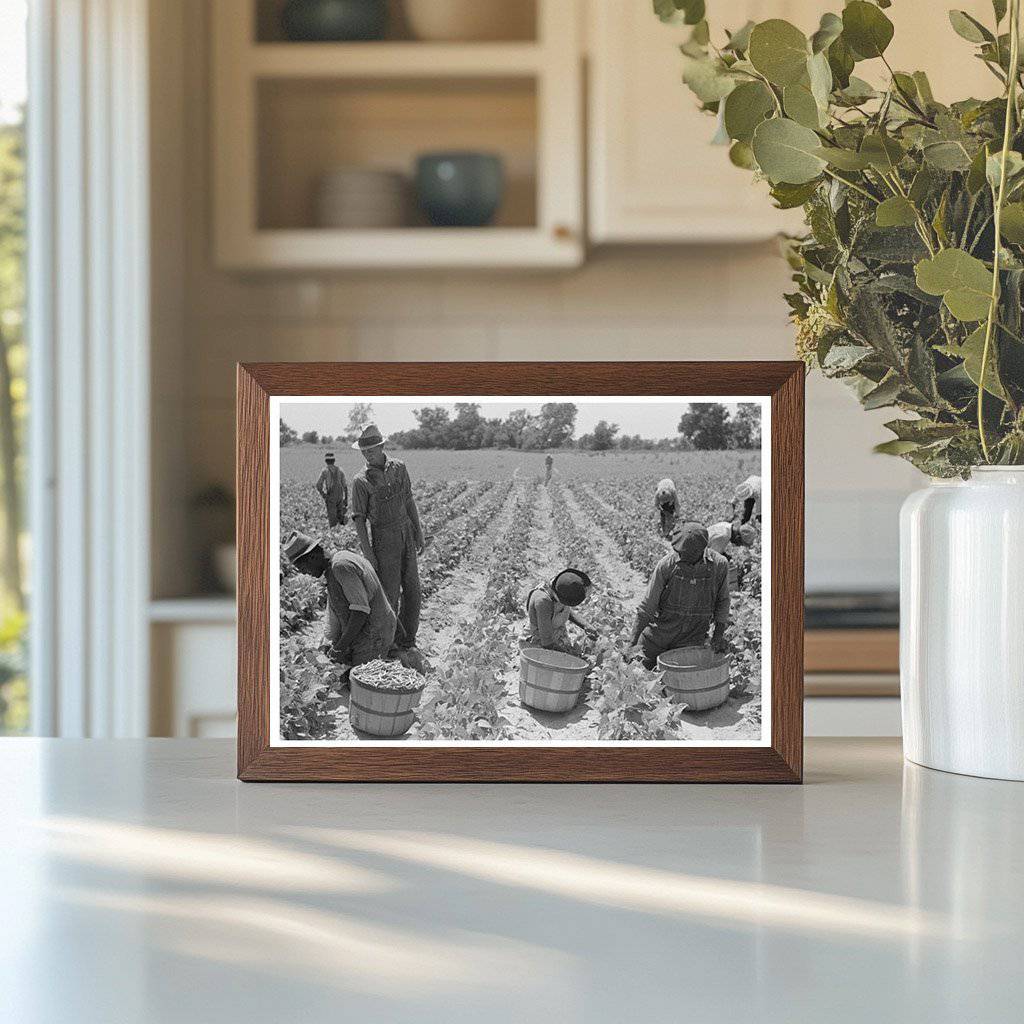
{"label": "green eucalyptus and leafy branches rising from the white vase", "polygon": [[[810,37],[770,18],[718,45],[705,0],[654,0],[691,27],[683,80],[716,141],[777,207],[803,207],[807,232],[785,240],[799,354],[865,409],[910,414],[877,451],[932,476],[1024,462],[1020,2],[993,0],[988,25],[949,11],[998,94],[947,105],[890,66],[890,0],[852,0]],[[887,85],[855,74],[867,61]]]}

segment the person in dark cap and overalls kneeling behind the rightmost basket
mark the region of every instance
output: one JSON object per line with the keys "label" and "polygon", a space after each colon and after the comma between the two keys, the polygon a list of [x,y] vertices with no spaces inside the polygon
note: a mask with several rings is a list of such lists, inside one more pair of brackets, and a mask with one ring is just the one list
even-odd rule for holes
{"label": "person in dark cap and overalls kneeling behind the rightmost basket", "polygon": [[637,609],[632,645],[639,643],[645,669],[676,647],[699,647],[715,624],[712,647],[726,649],[729,625],[729,563],[708,547],[708,530],[682,522],[670,538],[672,552],[654,566]]}

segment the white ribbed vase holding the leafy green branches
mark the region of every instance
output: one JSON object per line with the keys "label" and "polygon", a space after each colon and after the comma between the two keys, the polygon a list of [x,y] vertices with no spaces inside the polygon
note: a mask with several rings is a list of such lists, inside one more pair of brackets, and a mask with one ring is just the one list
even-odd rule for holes
{"label": "white ribbed vase holding the leafy green branches", "polygon": [[1024,467],[903,504],[900,694],[910,761],[1024,781]]}

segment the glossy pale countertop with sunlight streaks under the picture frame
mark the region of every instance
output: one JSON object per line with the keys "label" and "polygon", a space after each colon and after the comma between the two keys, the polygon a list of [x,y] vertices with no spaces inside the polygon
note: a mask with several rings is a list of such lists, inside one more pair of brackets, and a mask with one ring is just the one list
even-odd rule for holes
{"label": "glossy pale countertop with sunlight streaks under the picture frame", "polygon": [[248,784],[0,740],[0,1021],[1006,1022],[1024,785],[809,740],[804,786]]}

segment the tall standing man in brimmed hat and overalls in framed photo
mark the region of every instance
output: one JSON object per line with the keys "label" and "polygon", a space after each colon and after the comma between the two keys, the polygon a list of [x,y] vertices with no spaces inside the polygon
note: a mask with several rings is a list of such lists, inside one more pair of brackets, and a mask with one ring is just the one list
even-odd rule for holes
{"label": "tall standing man in brimmed hat and overalls in framed photo", "polygon": [[384,437],[372,423],[352,447],[367,462],[352,480],[352,522],[359,547],[398,614],[398,646],[412,648],[420,628],[417,556],[423,554],[424,540],[409,470],[404,463],[388,458]]}

